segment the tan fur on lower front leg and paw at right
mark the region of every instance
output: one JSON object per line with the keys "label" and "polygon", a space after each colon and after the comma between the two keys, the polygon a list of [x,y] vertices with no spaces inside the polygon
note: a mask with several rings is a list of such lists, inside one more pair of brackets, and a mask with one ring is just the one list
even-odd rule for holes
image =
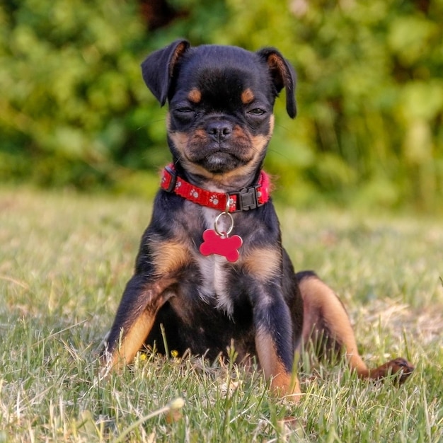
{"label": "tan fur on lower front leg and paw at right", "polygon": [[299,379],[284,369],[270,335],[259,331],[255,335],[255,349],[266,379],[271,379],[272,391],[277,396],[290,396],[292,401],[299,401],[301,393]]}

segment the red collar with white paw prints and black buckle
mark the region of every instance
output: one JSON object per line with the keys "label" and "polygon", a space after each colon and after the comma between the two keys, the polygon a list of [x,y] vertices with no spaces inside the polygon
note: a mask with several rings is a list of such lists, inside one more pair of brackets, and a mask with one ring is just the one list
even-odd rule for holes
{"label": "red collar with white paw prints and black buckle", "polygon": [[167,192],[174,192],[180,197],[206,207],[225,211],[229,198],[229,212],[248,211],[264,205],[269,200],[269,176],[260,171],[258,184],[243,188],[236,192],[212,192],[191,185],[183,178],[178,177],[173,163],[163,169],[161,188]]}

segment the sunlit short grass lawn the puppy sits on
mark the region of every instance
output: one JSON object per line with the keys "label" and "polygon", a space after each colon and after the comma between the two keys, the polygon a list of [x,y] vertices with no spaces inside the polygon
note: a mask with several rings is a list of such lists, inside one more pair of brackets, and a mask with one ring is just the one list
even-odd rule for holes
{"label": "sunlit short grass lawn the puppy sits on", "polygon": [[3,190],[0,442],[442,442],[441,221],[277,209],[294,265],[340,293],[364,359],[416,364],[404,386],[305,366],[292,405],[267,395],[258,370],[154,355],[100,381],[95,350],[149,202]]}

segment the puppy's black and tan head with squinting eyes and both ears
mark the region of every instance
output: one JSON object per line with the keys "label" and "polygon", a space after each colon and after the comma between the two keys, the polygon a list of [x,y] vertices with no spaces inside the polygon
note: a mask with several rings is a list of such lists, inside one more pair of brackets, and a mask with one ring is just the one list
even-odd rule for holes
{"label": "puppy's black and tan head with squinting eyes and both ears", "polygon": [[287,113],[296,115],[294,71],[274,48],[249,52],[232,46],[190,47],[178,40],[149,55],[142,73],[161,105],[168,100],[174,161],[203,180],[246,183],[254,178],[282,88]]}

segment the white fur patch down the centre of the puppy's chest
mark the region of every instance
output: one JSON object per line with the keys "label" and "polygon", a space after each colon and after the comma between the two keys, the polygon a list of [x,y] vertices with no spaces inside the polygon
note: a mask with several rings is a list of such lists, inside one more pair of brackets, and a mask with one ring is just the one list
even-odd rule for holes
{"label": "white fur patch down the centre of the puppy's chest", "polygon": [[[206,229],[214,229],[214,220],[217,217],[217,211],[214,209],[203,208],[205,216]],[[223,223],[223,222],[222,222]],[[224,226],[218,225],[219,229]],[[199,255],[197,258],[200,272],[202,274],[202,289],[200,297],[206,303],[215,303],[217,309],[221,309],[227,315],[233,313],[233,306],[229,292],[227,291],[227,279],[229,272],[226,270],[228,261],[222,255]]]}

